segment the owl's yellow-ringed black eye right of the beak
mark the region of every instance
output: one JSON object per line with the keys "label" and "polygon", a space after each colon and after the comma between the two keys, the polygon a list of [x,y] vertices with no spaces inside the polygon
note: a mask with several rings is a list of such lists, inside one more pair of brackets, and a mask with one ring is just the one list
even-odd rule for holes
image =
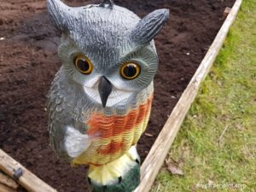
{"label": "owl's yellow-ringed black eye right of the beak", "polygon": [[120,74],[125,79],[136,79],[140,72],[141,67],[133,62],[125,63],[120,69]]}

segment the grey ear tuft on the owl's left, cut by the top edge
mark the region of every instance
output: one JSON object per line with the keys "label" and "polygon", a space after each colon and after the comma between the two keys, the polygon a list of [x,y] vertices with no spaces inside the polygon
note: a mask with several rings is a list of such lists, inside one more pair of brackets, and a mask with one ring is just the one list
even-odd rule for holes
{"label": "grey ear tuft on the owl's left, cut by the top edge", "polygon": [[67,28],[67,18],[69,15],[70,7],[65,3],[62,3],[61,0],[47,0],[47,7],[50,19],[54,22],[55,26],[61,30],[65,31]]}

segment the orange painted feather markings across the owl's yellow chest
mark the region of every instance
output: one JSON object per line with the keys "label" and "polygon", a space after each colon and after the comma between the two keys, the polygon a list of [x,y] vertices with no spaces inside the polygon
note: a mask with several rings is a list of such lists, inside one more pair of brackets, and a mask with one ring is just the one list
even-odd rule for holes
{"label": "orange painted feather markings across the owl's yellow chest", "polygon": [[[147,115],[150,112],[152,100],[153,94],[148,97],[147,102],[141,104],[138,108],[132,109],[124,116],[106,116],[102,113],[94,113],[88,121],[90,129],[87,131],[87,134],[90,136],[96,136],[98,138],[97,142],[102,143],[100,144],[100,147],[97,148],[98,153],[103,155],[116,154],[120,150],[131,148],[132,143],[137,143],[135,140],[138,138],[135,139],[135,134],[136,132],[140,132],[140,134],[142,134],[143,131],[137,129],[142,129],[139,125],[147,118]],[[125,133],[131,131],[131,142],[124,142]],[[113,140],[113,137],[119,136],[121,136],[120,141]],[[101,142],[102,139],[105,142]]]}

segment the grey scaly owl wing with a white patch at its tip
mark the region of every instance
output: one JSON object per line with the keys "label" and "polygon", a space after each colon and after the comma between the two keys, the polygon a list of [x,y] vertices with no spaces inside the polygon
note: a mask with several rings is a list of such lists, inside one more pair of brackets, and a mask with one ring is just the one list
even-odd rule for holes
{"label": "grey scaly owl wing with a white patch at its tip", "polygon": [[65,84],[61,70],[56,73],[48,95],[47,108],[49,112],[49,139],[50,146],[55,154],[62,160],[73,160],[83,153],[91,143],[88,135],[82,134],[79,128],[85,125],[79,124],[73,98],[76,90],[72,84]]}

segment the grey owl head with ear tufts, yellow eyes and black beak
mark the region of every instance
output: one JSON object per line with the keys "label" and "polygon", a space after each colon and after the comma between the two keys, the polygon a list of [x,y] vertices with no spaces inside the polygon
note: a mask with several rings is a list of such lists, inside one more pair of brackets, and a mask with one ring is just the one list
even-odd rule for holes
{"label": "grey owl head with ear tufts, yellow eyes and black beak", "polygon": [[60,0],[47,4],[62,32],[58,54],[64,72],[92,101],[113,107],[152,83],[158,67],[153,38],[168,9],[140,19],[111,1],[79,8]]}

